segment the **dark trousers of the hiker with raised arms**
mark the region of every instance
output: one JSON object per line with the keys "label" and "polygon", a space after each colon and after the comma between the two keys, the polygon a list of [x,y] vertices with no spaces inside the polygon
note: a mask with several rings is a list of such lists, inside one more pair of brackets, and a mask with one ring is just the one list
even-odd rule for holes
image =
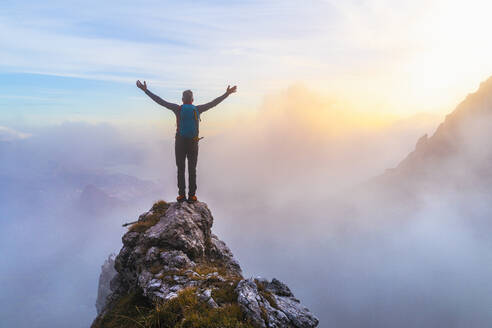
{"label": "dark trousers of the hiker with raised arms", "polygon": [[188,195],[196,192],[196,163],[198,160],[198,141],[191,138],[176,136],[174,144],[176,166],[178,167],[178,190],[180,195],[186,195],[185,162],[188,159]]}

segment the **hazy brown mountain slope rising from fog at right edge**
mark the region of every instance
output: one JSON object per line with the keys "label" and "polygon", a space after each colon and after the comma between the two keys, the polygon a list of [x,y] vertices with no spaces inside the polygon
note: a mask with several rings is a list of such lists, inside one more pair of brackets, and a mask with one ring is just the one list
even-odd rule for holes
{"label": "hazy brown mountain slope rising from fog at right edge", "polygon": [[397,167],[371,183],[430,191],[491,186],[491,139],[492,77],[447,115],[431,137],[422,136]]}

